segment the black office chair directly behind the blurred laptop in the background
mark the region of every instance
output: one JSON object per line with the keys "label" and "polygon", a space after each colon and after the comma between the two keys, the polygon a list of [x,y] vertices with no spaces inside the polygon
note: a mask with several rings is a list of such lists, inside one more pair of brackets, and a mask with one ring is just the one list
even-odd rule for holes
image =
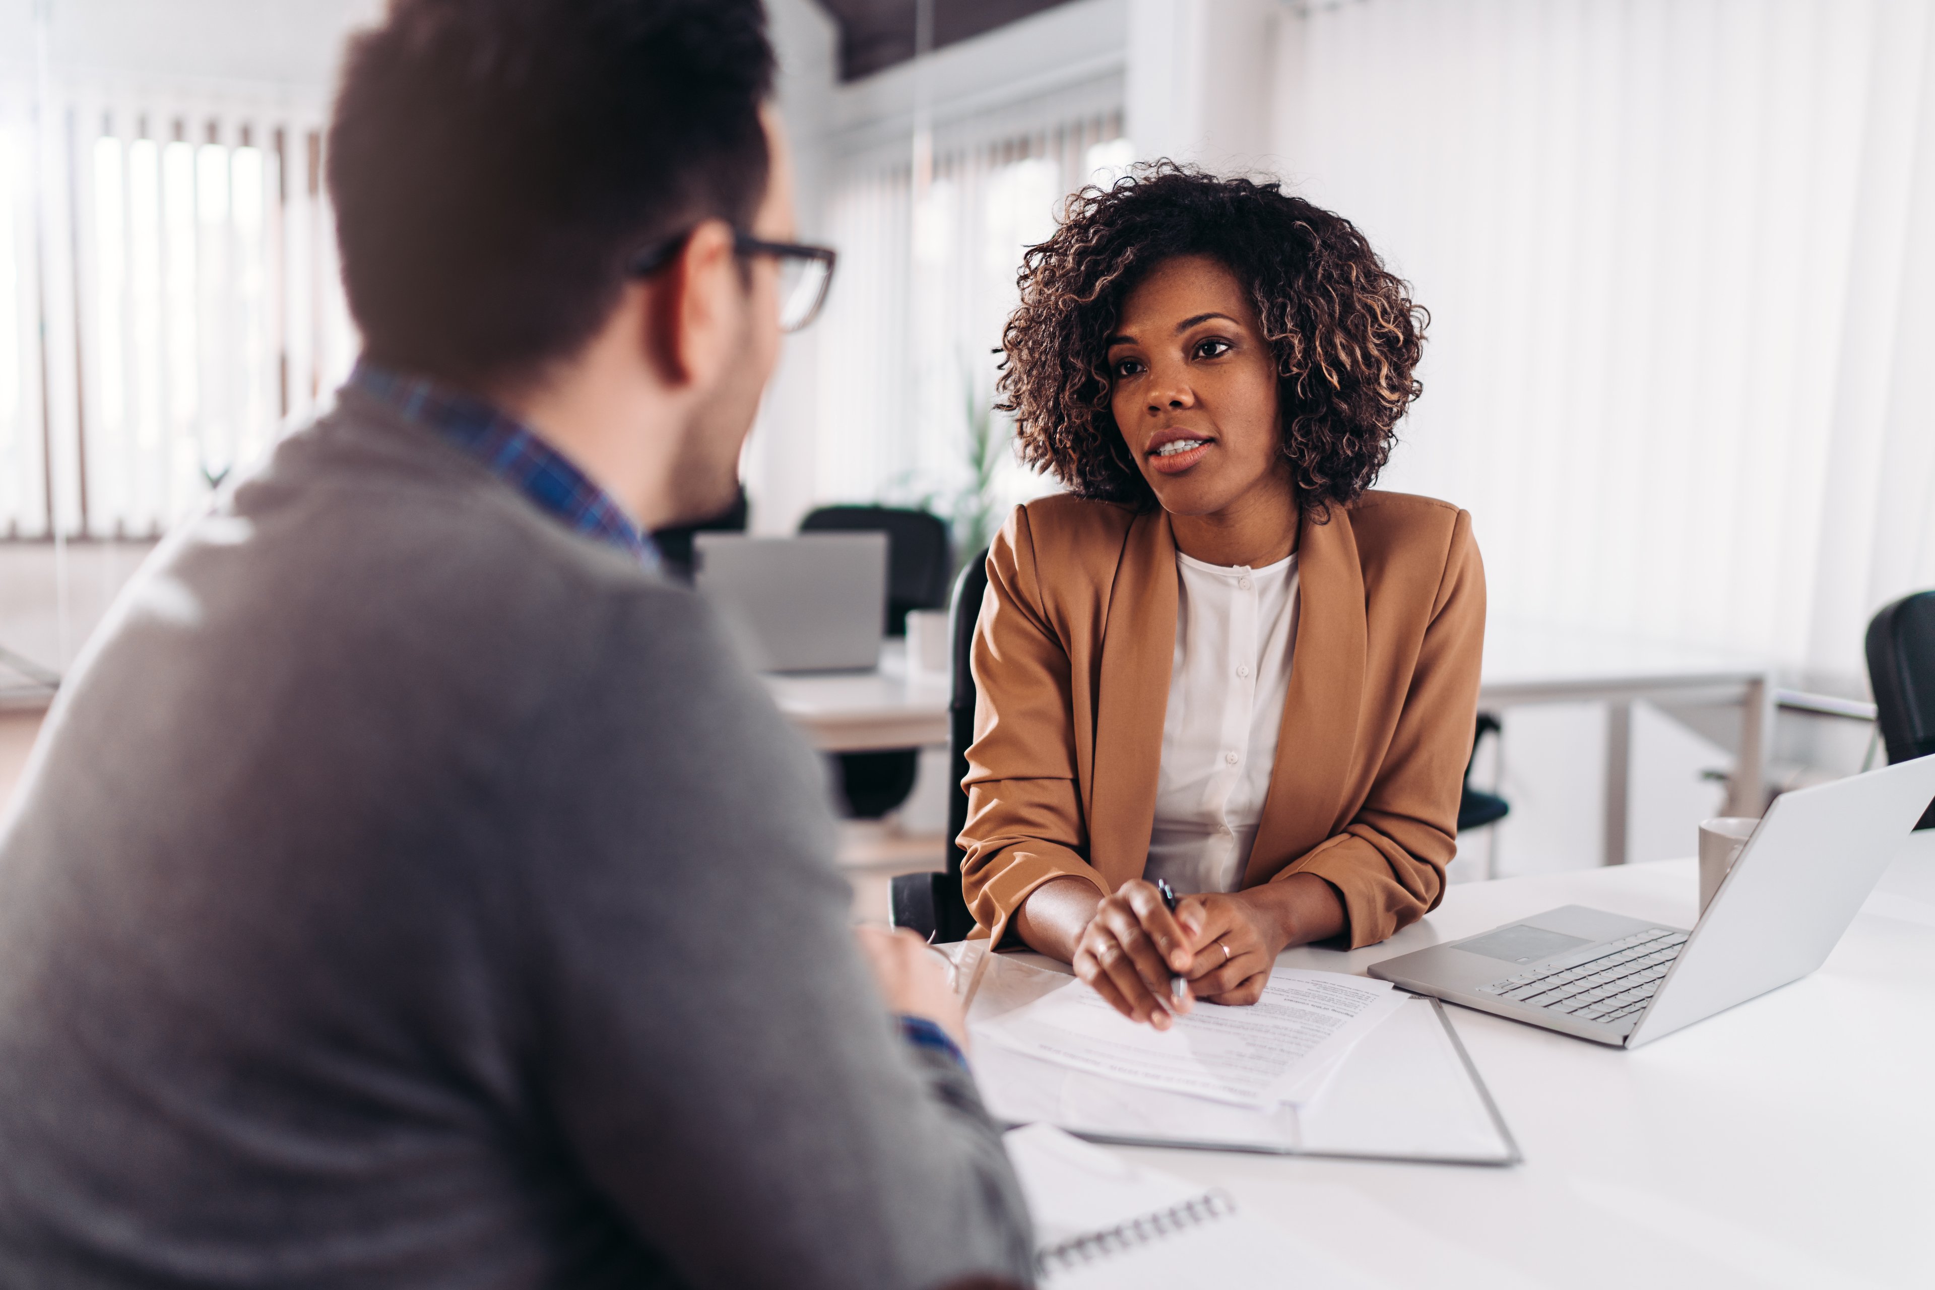
{"label": "black office chair directly behind the blurred laptop in the background", "polygon": [[[948,601],[948,526],[927,511],[820,507],[799,522],[799,532],[886,534],[888,636],[908,634],[909,609],[938,609]],[[840,752],[834,766],[848,814],[855,820],[878,820],[908,801],[921,770],[921,750]]]}

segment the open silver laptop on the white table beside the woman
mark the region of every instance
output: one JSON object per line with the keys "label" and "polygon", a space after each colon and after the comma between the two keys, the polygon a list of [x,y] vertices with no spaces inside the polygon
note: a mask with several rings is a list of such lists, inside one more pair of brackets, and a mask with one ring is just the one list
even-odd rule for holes
{"label": "open silver laptop on the white table beside the woman", "polygon": [[1370,975],[1637,1048],[1821,967],[1931,799],[1935,756],[1782,793],[1691,932],[1565,905]]}

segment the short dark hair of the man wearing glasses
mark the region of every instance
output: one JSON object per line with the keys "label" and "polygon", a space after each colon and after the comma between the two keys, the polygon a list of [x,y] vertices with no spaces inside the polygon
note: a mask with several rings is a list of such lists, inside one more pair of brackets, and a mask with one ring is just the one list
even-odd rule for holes
{"label": "short dark hair of the man wearing glasses", "polygon": [[575,354],[637,251],[751,224],[772,72],[759,0],[393,0],[327,153],[370,358],[480,383]]}

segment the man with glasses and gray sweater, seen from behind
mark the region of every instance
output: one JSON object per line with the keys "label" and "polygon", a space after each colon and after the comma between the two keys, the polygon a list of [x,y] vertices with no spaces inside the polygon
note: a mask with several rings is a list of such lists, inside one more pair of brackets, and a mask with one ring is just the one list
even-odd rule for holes
{"label": "man with glasses and gray sweater, seen from behind", "polygon": [[811,752],[640,538],[731,497],[778,352],[770,79],[757,0],[354,43],[364,364],[130,586],[0,834],[0,1284],[1027,1278],[942,969],[869,979]]}

